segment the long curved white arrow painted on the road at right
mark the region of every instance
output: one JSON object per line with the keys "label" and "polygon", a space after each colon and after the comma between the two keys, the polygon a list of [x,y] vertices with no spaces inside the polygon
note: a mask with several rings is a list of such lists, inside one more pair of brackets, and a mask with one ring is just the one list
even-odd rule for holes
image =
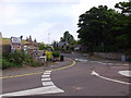
{"label": "long curved white arrow painted on the road at right", "polygon": [[98,73],[96,73],[95,71],[93,71],[91,74],[92,74],[92,75],[95,75],[95,76],[97,76],[97,77],[104,78],[104,79],[111,81],[111,82],[117,82],[117,83],[121,83],[121,84],[131,85],[131,83],[127,83],[127,82],[117,81],[117,79],[112,79],[112,78],[108,78],[108,77],[100,76],[100,75],[99,75]]}

